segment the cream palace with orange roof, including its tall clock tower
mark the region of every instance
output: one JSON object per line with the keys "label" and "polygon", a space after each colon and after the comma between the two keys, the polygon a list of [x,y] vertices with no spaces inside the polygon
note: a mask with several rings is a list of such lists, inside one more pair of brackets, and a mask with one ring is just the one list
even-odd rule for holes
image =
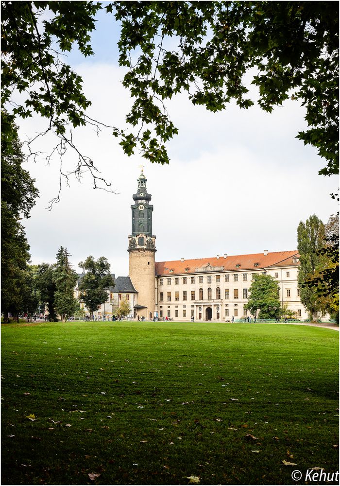
{"label": "cream palace with orange roof, including its tall clock tower", "polygon": [[127,298],[135,319],[144,316],[147,320],[168,317],[190,321],[193,317],[195,321],[228,322],[233,316],[239,319],[250,315],[244,306],[253,275],[265,274],[278,281],[282,305],[287,304],[298,319],[306,319],[297,285],[297,250],[155,261],[153,205],[143,171],[137,182],[128,237],[129,276],[118,277],[116,287],[108,289],[110,298],[102,305],[99,316],[111,312],[110,301]]}

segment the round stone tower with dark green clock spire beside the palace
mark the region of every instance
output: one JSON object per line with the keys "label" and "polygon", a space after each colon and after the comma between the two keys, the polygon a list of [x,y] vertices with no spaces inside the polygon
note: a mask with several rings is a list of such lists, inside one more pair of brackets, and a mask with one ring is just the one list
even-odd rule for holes
{"label": "round stone tower with dark green clock spire beside the palace", "polygon": [[153,319],[155,311],[155,264],[156,252],[153,236],[153,205],[151,194],[146,190],[147,179],[142,173],[138,177],[138,188],[132,197],[132,232],[129,236],[129,277],[138,292],[137,315]]}

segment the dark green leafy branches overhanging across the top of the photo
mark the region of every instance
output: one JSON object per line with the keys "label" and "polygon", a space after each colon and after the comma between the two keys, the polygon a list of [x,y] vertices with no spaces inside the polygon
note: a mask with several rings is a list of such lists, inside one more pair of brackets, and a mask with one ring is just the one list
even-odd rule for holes
{"label": "dark green leafy branches overhanging across the top of the photo", "polygon": [[338,2],[2,2],[2,105],[12,104],[15,116],[45,117],[46,131],[60,138],[59,155],[75,150],[79,177],[87,168],[95,187],[100,180],[107,184],[67,127],[104,124],[86,114],[91,102],[83,80],[62,55],[74,46],[93,55],[90,35],[102,8],[120,29],[122,83],[133,97],[126,116],[131,131],[113,126],[114,120],[110,126],[125,154],[139,150],[151,162],[168,163],[166,142],[177,128],[166,100],[186,91],[193,104],[211,111],[231,100],[248,108],[254,101],[247,75],[265,111],[289,98],[306,107],[308,128],[297,137],[325,160],[319,174],[338,173]]}

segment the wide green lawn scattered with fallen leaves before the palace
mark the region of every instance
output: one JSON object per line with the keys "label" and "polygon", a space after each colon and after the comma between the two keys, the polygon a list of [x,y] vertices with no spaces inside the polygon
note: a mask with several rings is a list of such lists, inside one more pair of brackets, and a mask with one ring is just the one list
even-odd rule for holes
{"label": "wide green lawn scattered with fallen leaves before the palace", "polygon": [[3,485],[170,485],[190,476],[289,485],[305,484],[291,479],[294,469],[338,469],[335,330],[131,322],[1,330]]}

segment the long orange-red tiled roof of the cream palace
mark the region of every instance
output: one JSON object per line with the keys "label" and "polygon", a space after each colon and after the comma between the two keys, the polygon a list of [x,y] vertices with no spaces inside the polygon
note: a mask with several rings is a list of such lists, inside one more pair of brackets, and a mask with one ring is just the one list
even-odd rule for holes
{"label": "long orange-red tiled roof of the cream palace", "polygon": [[[212,269],[212,271],[225,272],[238,270],[257,270],[261,268],[268,268],[272,266],[287,266],[296,265],[293,262],[293,256],[299,258],[297,250],[291,251],[274,251],[264,255],[264,253],[254,253],[252,255],[228,255],[226,258],[221,256],[220,258],[197,258],[194,260],[172,260],[172,261],[156,261],[156,275],[169,275],[169,274],[192,274],[198,273],[196,269],[205,268],[208,264],[212,267],[223,267],[223,269]],[[255,267],[255,263],[258,265]],[[237,267],[236,265],[239,265]],[[188,269],[188,270],[186,270]],[[172,272],[170,272],[172,270]]]}

